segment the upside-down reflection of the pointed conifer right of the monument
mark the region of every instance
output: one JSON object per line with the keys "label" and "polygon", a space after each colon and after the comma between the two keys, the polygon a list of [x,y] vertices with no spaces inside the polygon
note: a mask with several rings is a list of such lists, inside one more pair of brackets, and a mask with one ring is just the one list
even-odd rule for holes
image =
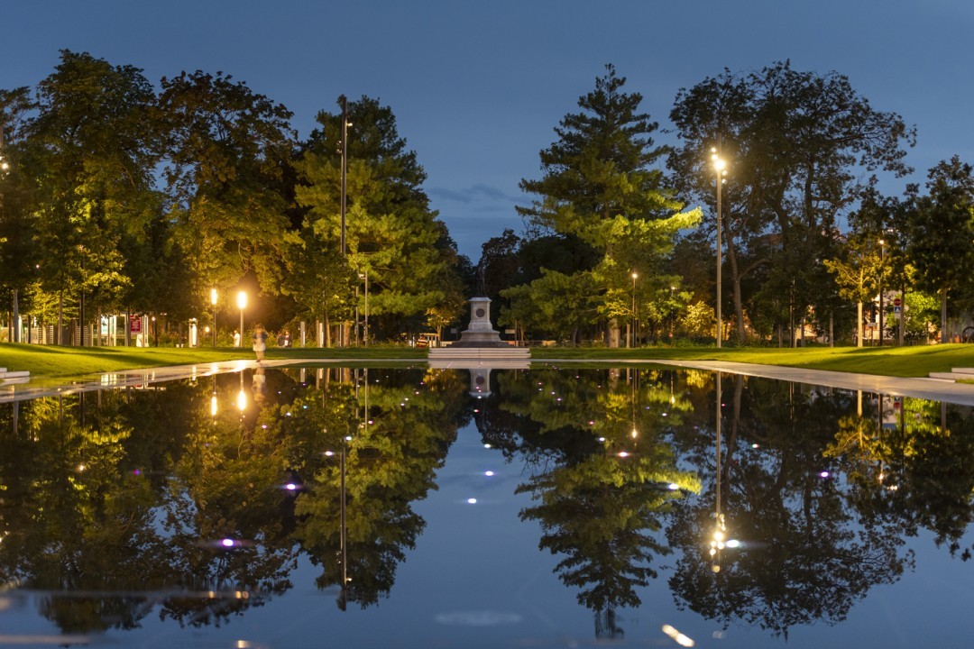
{"label": "upside-down reflection of the pointed conifer right of the monument", "polygon": [[485,417],[481,432],[508,454],[546,460],[518,487],[538,503],[521,519],[541,523],[541,549],[563,557],[555,571],[593,611],[596,635],[619,637],[618,609],[639,606],[637,589],[669,553],[663,517],[698,488],[664,440],[687,404],[646,371],[542,370],[500,384],[501,416]]}

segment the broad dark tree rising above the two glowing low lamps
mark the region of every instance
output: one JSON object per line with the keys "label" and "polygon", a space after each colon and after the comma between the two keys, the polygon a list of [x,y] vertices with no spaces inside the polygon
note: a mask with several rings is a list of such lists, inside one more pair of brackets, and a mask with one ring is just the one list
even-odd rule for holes
{"label": "broad dark tree rising above the two glowing low lamps", "polygon": [[183,72],[162,80],[158,120],[167,134],[167,215],[173,241],[206,303],[209,289],[256,277],[281,286],[282,234],[289,226],[285,169],[295,148],[291,113],[230,75]]}

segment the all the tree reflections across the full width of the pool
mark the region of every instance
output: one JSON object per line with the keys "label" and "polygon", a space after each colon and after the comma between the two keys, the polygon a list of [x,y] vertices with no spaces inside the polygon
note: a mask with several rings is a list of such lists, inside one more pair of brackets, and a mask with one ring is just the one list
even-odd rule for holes
{"label": "all the tree reflections across the full width of the pool", "polygon": [[[471,415],[527,466],[521,518],[541,525],[541,549],[601,637],[622,634],[618,611],[640,604],[673,551],[678,605],[784,635],[839,622],[895,581],[912,564],[905,536],[929,530],[971,554],[965,409],[726,377],[721,510],[744,545],[714,572],[707,373],[497,373],[498,389],[474,402],[466,372],[267,371],[242,412],[249,379],[40,399],[19,404],[16,422],[0,407],[0,580],[37,593],[66,632],[135,627],[152,610],[222,624],[291,588],[302,555],[341,606],[370,606],[393,593],[425,525],[412,503],[435,488]],[[329,451],[344,451],[344,535]]]}

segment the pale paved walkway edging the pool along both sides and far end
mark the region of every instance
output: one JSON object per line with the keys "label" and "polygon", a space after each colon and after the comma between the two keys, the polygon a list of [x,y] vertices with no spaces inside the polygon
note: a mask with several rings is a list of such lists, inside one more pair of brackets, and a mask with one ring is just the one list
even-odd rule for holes
{"label": "pale paved walkway edging the pool along both sides and far end", "polygon": [[[368,359],[369,363],[385,363],[393,365],[416,364],[420,359]],[[316,363],[343,363],[348,359],[302,358],[302,359],[274,359],[265,360],[264,367],[281,367],[287,365],[314,365]],[[576,363],[590,363],[591,361],[573,359],[544,359],[533,361],[535,365],[572,365]],[[763,377],[766,379],[789,380],[812,385],[826,385],[847,390],[863,390],[888,394],[891,396],[918,397],[932,401],[946,401],[963,406],[974,406],[974,384],[955,383],[943,379],[897,379],[894,377],[880,377],[868,374],[852,374],[848,372],[828,372],[824,370],[805,370],[773,365],[754,365],[750,363],[733,363],[730,361],[671,361],[671,360],[617,360],[619,365],[672,365],[712,372],[727,372],[746,377]],[[478,367],[489,366],[479,364]],[[30,383],[9,385],[0,388],[0,403],[36,399],[37,397],[74,394],[93,390],[103,390],[115,387],[142,386],[165,380],[194,379],[210,377],[215,374],[241,372],[257,367],[256,361],[236,360],[219,363],[203,363],[199,365],[177,365],[173,367],[151,368],[146,370],[126,370],[86,377],[82,379],[65,380],[63,384],[53,386],[32,386]],[[458,369],[463,369],[457,366]]]}

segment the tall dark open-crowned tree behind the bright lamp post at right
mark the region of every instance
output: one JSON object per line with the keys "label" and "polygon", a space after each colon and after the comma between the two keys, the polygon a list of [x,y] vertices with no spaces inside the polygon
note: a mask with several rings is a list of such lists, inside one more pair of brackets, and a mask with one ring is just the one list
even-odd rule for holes
{"label": "tall dark open-crowned tree behind the bright lamp post at right", "polygon": [[[743,75],[725,70],[681,90],[670,118],[683,140],[669,159],[682,196],[712,203],[711,149],[728,162],[723,223],[738,342],[744,280],[763,267],[750,310],[762,298],[774,304],[794,280],[797,312],[830,312],[834,288],[822,281],[821,260],[835,257],[837,225],[871,174],[909,172],[902,147],[913,145],[914,129],[873,109],[843,75],[799,72],[788,61]],[[771,317],[780,321],[780,312]]]}

